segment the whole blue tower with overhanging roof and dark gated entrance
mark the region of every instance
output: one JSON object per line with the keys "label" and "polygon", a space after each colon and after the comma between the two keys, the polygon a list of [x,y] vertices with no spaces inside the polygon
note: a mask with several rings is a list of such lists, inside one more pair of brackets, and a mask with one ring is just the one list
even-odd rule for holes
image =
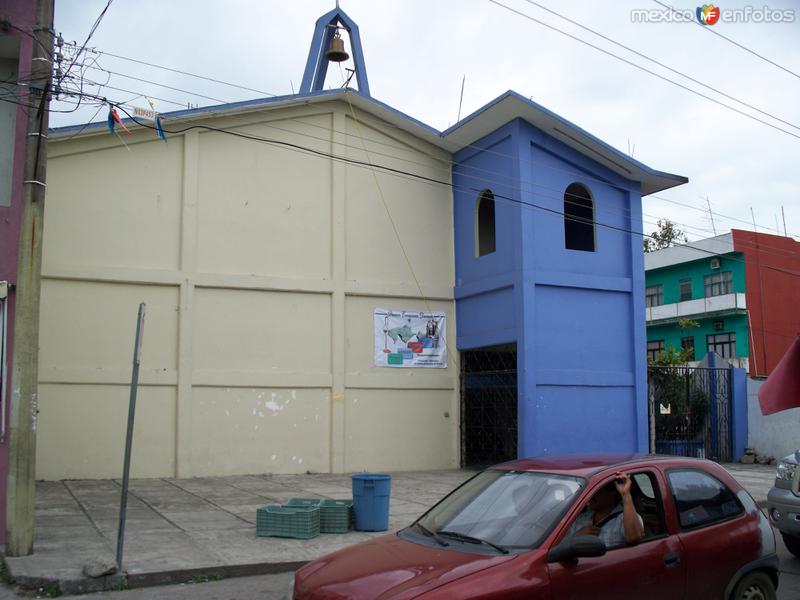
{"label": "whole blue tower with overhanging roof and dark gated entrance", "polygon": [[641,197],[687,179],[513,92],[443,137],[464,462],[647,451]]}

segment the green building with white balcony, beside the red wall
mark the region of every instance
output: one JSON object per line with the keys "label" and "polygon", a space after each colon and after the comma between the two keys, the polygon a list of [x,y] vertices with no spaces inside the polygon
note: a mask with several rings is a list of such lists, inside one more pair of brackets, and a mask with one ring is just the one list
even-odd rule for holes
{"label": "green building with white balcony, beside the red wall", "polygon": [[645,282],[648,360],[670,347],[694,361],[713,350],[748,368],[745,257],[731,233],[646,253]]}

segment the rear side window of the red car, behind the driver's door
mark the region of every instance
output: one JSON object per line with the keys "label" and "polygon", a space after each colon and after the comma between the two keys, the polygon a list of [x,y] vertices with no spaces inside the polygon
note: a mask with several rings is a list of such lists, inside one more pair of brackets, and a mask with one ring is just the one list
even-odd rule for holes
{"label": "rear side window of the red car, behind the driver's door", "polygon": [[708,473],[674,469],[667,476],[682,529],[710,525],[744,511],[730,488]]}

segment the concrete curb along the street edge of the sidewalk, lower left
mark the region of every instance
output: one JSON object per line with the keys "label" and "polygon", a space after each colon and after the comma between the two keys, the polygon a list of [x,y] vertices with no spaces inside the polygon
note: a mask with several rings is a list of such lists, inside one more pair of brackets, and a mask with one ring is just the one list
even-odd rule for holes
{"label": "concrete curb along the street edge of the sidewalk, lower left", "polygon": [[[5,557],[3,557],[5,558]],[[253,575],[274,575],[296,571],[308,561],[281,563],[251,563],[245,565],[221,565],[206,568],[175,569],[170,571],[153,571],[149,573],[115,573],[104,577],[78,577],[59,579],[55,577],[15,576],[13,570],[6,565],[6,572],[13,585],[27,590],[57,585],[62,594],[77,595],[95,592],[109,592],[135,588],[192,583],[195,577],[209,580],[216,578],[250,577]]]}

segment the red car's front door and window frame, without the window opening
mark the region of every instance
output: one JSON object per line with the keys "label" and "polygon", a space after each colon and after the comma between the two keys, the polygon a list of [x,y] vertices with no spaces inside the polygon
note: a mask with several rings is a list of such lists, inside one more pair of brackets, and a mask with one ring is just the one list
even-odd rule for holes
{"label": "red car's front door and window frame, without the window opening", "polygon": [[[655,469],[630,471],[637,485],[649,492],[647,503],[639,498],[641,507],[654,511],[642,515],[645,523],[645,537],[633,546],[609,548],[605,555],[592,558],[579,558],[576,561],[550,563],[551,597],[558,600],[620,600],[621,598],[643,598],[646,600],[679,600],[684,597],[685,565],[681,542],[675,532],[667,529],[664,519],[664,498],[666,483]],[[598,482],[584,496],[581,506],[573,514],[576,517],[585,508],[588,499],[600,487],[613,480],[613,475]],[[645,496],[647,494],[644,494]],[[637,507],[637,510],[640,510]],[[569,530],[570,522],[556,538],[556,544],[563,540]]]}

